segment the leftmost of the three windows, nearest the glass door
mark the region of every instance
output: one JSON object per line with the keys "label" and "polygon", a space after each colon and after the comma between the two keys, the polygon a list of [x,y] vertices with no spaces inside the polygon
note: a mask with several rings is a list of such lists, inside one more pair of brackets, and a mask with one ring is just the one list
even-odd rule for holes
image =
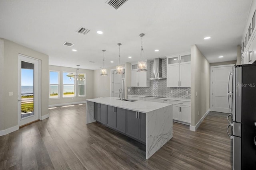
{"label": "leftmost of the three windows, nearest the glass door", "polygon": [[49,98],[59,98],[59,72],[50,71],[50,94]]}

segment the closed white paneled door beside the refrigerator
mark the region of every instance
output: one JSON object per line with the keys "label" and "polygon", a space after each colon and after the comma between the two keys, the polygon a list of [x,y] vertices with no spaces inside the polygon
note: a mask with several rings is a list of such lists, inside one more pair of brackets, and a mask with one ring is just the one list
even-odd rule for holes
{"label": "closed white paneled door beside the refrigerator", "polygon": [[230,113],[227,100],[228,75],[232,65],[211,68],[211,108],[212,111]]}

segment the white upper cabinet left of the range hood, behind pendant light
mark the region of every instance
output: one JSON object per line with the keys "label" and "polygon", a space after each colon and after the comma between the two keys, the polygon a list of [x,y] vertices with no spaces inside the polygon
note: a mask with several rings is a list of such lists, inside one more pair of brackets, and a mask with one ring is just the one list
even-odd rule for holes
{"label": "white upper cabinet left of the range hood, behind pendant light", "polygon": [[132,64],[131,87],[149,87],[150,81],[150,61],[147,61],[147,72],[137,72],[138,64]]}

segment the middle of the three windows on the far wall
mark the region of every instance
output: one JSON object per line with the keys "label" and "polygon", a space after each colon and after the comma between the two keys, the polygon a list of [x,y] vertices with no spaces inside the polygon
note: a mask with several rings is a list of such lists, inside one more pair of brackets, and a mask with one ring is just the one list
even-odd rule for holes
{"label": "middle of the three windows on the far wall", "polygon": [[63,72],[63,98],[76,96],[76,81],[74,73]]}

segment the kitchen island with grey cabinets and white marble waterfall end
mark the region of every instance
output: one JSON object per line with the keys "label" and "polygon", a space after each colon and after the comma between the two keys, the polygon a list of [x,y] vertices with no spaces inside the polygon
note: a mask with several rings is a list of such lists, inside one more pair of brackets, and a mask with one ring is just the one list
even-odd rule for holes
{"label": "kitchen island with grey cabinets and white marble waterfall end", "polygon": [[172,138],[172,104],[121,101],[116,97],[86,100],[86,124],[98,121],[146,144],[146,159]]}

